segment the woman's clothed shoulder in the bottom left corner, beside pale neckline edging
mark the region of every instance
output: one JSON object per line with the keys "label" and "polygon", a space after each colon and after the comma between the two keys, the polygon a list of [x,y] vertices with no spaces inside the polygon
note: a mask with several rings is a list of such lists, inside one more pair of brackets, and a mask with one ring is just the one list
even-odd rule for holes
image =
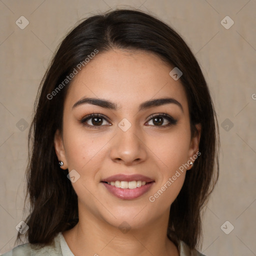
{"label": "woman's clothed shoulder in the bottom left corner, beside pale neckline edging", "polygon": [[2,254],[2,256],[62,256],[58,236],[55,236],[52,245],[42,247],[40,244],[24,243]]}

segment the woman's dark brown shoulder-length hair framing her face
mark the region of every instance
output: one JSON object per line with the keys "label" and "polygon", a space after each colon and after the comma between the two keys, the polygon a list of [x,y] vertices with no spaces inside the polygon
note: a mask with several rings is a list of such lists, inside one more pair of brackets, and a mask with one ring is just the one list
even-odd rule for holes
{"label": "woman's dark brown shoulder-length hair framing her face", "polygon": [[[68,170],[61,170],[57,164],[53,145],[56,129],[61,130],[63,103],[71,81],[61,90],[56,88],[95,49],[100,54],[114,48],[153,52],[182,71],[179,79],[187,95],[192,136],[195,124],[201,123],[201,155],[186,172],[171,204],[167,235],[175,243],[180,239],[195,248],[201,235],[201,209],[218,178],[215,111],[198,62],[180,35],[152,14],[131,9],[108,11],[80,22],[60,43],[41,81],[28,135],[25,201],[29,195],[30,211],[24,237],[30,243],[45,245],[57,232],[72,228],[78,221],[77,195],[66,177]],[[50,98],[54,90],[57,93]],[[18,233],[16,242],[20,238]]]}

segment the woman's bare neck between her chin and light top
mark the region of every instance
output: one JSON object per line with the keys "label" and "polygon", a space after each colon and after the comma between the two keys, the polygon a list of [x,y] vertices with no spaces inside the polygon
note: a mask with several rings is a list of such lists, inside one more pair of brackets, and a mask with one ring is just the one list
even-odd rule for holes
{"label": "woman's bare neck between her chin and light top", "polygon": [[64,231],[63,236],[75,256],[176,256],[178,250],[166,234],[167,223],[168,214],[165,214],[142,228],[130,227],[127,222],[118,228],[98,216],[83,212],[79,214],[78,223]]}

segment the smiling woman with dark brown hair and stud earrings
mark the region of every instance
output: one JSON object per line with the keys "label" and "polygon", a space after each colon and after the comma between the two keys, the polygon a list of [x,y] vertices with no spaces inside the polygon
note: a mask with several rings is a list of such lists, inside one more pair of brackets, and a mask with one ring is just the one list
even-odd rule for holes
{"label": "smiling woman with dark brown hair and stud earrings", "polygon": [[4,255],[203,255],[217,127],[200,67],[167,24],[127,9],[82,21],[41,82],[17,235],[28,243]]}

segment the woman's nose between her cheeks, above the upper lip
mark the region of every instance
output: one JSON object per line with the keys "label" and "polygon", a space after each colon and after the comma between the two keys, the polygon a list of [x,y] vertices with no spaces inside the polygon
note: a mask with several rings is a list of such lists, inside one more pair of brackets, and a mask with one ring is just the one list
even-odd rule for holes
{"label": "woman's nose between her cheeks, above the upper lip", "polygon": [[146,145],[142,133],[135,125],[131,125],[126,131],[117,127],[110,149],[112,161],[119,164],[133,165],[144,161],[146,155]]}

